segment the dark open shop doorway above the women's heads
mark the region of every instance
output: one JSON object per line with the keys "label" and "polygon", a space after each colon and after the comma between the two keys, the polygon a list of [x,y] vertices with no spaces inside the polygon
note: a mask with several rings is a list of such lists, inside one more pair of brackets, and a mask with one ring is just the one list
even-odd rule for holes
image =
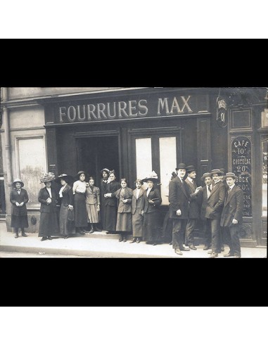
{"label": "dark open shop doorway above the women's heads", "polygon": [[101,169],[115,169],[120,177],[118,136],[98,136],[78,139],[78,169],[85,170],[100,186]]}

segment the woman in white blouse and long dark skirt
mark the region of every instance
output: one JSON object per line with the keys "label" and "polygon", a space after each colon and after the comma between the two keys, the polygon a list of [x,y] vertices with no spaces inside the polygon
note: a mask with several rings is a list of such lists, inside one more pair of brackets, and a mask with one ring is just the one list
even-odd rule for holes
{"label": "woman in white blouse and long dark skirt", "polygon": [[87,205],[86,205],[86,173],[79,171],[76,181],[72,186],[75,208],[75,228],[77,233],[84,235],[84,229],[87,229]]}

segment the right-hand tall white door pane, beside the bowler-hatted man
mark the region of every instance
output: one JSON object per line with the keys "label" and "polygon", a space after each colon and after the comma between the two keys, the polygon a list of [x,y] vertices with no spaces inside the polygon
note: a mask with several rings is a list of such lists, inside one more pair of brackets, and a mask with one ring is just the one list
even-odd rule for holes
{"label": "right-hand tall white door pane, beside the bowler-hatted man", "polygon": [[160,182],[162,205],[169,205],[168,186],[172,172],[177,167],[176,137],[162,137],[159,139],[160,150]]}

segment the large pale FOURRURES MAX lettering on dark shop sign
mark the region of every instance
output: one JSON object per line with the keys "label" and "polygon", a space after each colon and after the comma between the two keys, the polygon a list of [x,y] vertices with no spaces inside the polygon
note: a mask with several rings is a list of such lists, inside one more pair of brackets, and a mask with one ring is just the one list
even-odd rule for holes
{"label": "large pale FOURRURES MAX lettering on dark shop sign", "polygon": [[106,103],[68,104],[58,107],[57,122],[96,122],[143,117],[191,114],[196,112],[192,96],[175,96],[147,100],[113,101]]}

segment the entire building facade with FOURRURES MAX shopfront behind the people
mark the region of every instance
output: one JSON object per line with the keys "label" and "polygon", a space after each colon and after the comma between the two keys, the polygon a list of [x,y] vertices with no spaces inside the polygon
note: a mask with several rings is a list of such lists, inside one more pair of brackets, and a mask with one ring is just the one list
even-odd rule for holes
{"label": "entire building facade with FOURRURES MAX shopfront behind the people", "polygon": [[[39,91],[30,100],[12,100],[5,92],[5,191],[9,196],[13,179],[25,179],[32,193],[31,231],[38,231],[38,179],[45,170],[75,176],[83,169],[96,177],[98,186],[100,171],[107,167],[115,169],[117,179],[127,178],[131,188],[136,178],[154,170],[160,177],[164,220],[171,174],[184,162],[196,167],[198,186],[211,169],[235,172],[244,192],[241,243],[267,244],[266,89],[91,88],[59,94],[51,88],[50,94]],[[11,230],[8,198],[6,205]],[[196,238],[203,238],[200,224]]]}

